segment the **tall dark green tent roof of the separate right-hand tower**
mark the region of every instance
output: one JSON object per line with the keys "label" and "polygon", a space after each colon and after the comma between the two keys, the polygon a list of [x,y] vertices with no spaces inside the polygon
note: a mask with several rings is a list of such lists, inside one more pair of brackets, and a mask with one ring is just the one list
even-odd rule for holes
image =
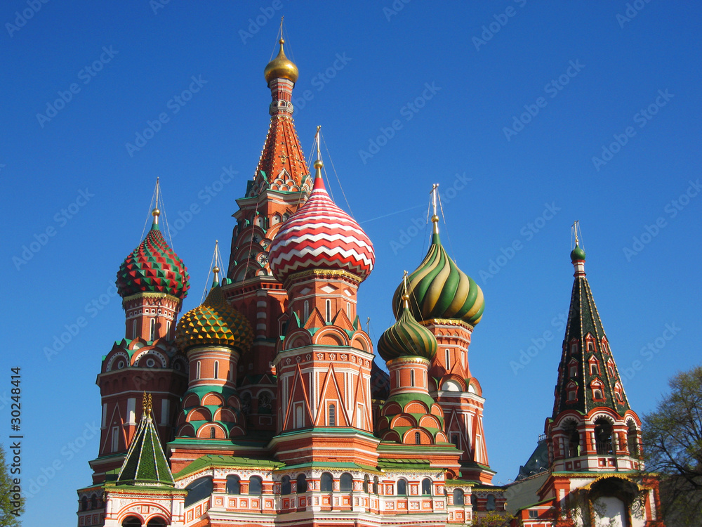
{"label": "tall dark green tent roof of the separate right-hand tower", "polygon": [[623,416],[630,410],[629,402],[585,276],[585,251],[581,249],[577,236],[571,262],[575,268],[575,281],[558,370],[553,417],[566,410],[576,410],[584,415],[598,407],[611,408]]}

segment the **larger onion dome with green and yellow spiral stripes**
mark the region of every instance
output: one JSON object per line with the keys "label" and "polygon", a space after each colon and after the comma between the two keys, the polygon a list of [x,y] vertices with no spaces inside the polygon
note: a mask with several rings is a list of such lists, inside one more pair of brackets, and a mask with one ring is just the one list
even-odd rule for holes
{"label": "larger onion dome with green and yellow spiral stripes", "polygon": [[[410,309],[416,320],[449,318],[476,325],[482,318],[485,300],[475,280],[453,263],[439,240],[439,217],[432,216],[434,234],[427,255],[420,266],[409,275]],[[402,284],[395,290],[392,310],[402,315]]]}

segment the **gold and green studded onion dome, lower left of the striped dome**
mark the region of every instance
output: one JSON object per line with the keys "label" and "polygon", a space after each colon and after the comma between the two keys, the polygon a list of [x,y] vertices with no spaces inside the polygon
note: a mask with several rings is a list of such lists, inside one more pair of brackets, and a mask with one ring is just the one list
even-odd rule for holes
{"label": "gold and green studded onion dome, lower left of the striped dome", "polygon": [[225,346],[241,354],[251,347],[251,341],[249,320],[230,306],[218,283],[202,305],[185,313],[176,327],[176,345],[183,351],[193,346]]}

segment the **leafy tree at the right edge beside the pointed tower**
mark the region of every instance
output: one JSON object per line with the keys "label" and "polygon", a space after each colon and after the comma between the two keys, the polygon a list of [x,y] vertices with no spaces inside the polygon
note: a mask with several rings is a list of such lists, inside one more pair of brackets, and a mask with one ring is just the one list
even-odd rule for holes
{"label": "leafy tree at the right edge beside the pointed tower", "polygon": [[644,416],[647,471],[661,474],[668,525],[702,525],[702,366],[668,382],[670,395]]}

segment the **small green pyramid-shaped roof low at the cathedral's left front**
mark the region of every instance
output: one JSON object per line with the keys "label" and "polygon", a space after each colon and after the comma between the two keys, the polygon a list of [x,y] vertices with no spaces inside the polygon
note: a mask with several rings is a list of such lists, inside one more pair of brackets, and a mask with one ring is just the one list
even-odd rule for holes
{"label": "small green pyramid-shaped roof low at the cathedral's left front", "polygon": [[117,485],[176,486],[164,449],[161,448],[159,434],[154,427],[151,404],[151,394],[147,396],[145,392],[144,412],[119,469]]}

